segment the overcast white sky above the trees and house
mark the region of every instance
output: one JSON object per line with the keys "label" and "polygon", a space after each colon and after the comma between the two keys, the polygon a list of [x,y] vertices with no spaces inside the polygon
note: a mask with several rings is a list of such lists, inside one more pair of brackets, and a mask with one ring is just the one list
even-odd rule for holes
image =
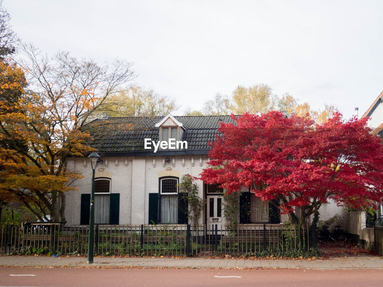
{"label": "overcast white sky above the trees and house", "polygon": [[5,0],[20,38],[48,54],[134,62],[137,83],[200,109],[266,83],[314,109],[360,115],[383,90],[383,1]]}

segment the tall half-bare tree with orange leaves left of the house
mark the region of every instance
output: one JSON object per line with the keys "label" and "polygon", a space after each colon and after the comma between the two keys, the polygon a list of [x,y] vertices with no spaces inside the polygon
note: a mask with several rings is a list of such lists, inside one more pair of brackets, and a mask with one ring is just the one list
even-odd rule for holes
{"label": "tall half-bare tree with orange leaves left of the house", "polygon": [[[1,178],[0,189],[22,201],[37,219],[62,221],[65,192],[81,177],[66,168],[67,158],[93,151],[85,124],[97,117],[111,93],[135,76],[132,64],[121,60],[99,65],[66,52],[47,57],[32,46],[22,49],[21,78],[26,82],[0,98],[0,168],[7,176]],[[8,66],[21,71],[15,64]],[[6,72],[1,77],[10,85]]]}

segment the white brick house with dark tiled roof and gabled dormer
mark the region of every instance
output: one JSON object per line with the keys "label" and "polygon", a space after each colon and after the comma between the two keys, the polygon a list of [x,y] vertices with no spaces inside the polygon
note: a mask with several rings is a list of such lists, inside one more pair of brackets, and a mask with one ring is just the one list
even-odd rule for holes
{"label": "white brick house with dark tiled roof and gabled dormer", "polygon": [[[173,117],[168,114],[165,117],[121,117],[93,121],[106,122],[105,126],[128,125],[128,128],[118,127],[113,137],[103,140],[95,138],[93,146],[101,156],[95,173],[95,223],[187,223],[182,211],[185,203],[180,199],[175,184],[184,174],[198,177],[207,167],[206,162],[210,160],[208,142],[215,139],[220,121],[233,120],[230,116]],[[105,133],[108,130],[105,129]],[[154,152],[154,148],[144,149],[145,138],[154,142],[175,138],[187,141],[188,147],[173,150],[160,148]],[[92,182],[90,158],[70,158],[67,168],[81,172],[83,178],[75,182],[76,191],[66,194],[65,219],[68,224],[86,225],[89,222]],[[207,202],[201,223],[223,222],[222,190],[199,180],[196,183],[199,196]],[[247,188],[241,191],[240,223],[280,223],[282,216],[278,208],[260,201]],[[286,216],[282,217],[282,221],[286,219]]]}

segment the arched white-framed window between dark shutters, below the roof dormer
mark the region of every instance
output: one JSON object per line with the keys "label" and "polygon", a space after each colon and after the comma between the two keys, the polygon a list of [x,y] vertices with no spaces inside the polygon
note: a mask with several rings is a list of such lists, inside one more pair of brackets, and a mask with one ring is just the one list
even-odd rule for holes
{"label": "arched white-framed window between dark shutters, below the roof dormer", "polygon": [[178,222],[178,179],[160,180],[161,223]]}

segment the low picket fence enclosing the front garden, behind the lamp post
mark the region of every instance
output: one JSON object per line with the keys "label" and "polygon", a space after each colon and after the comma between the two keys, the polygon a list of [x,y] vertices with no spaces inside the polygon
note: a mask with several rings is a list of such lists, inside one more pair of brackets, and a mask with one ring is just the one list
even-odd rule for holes
{"label": "low picket fence enclosing the front garden, behind the lamp post", "polygon": [[[310,232],[281,224],[95,225],[94,254],[111,256],[253,255],[266,250],[310,251]],[[88,225],[0,227],[0,254],[85,255]]]}

